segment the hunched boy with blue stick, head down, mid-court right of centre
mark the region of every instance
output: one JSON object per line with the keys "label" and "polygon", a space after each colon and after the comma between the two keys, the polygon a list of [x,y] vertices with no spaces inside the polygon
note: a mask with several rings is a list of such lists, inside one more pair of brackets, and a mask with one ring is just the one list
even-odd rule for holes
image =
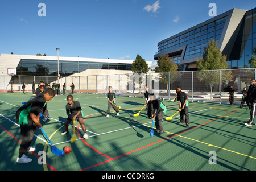
{"label": "hunched boy with blue stick, head down, mid-court right of centre", "polygon": [[162,135],[164,133],[164,130],[161,122],[163,120],[164,114],[166,114],[166,106],[161,101],[156,99],[155,95],[151,95],[150,100],[153,106],[152,119],[155,120],[156,132],[158,132],[159,135]]}

